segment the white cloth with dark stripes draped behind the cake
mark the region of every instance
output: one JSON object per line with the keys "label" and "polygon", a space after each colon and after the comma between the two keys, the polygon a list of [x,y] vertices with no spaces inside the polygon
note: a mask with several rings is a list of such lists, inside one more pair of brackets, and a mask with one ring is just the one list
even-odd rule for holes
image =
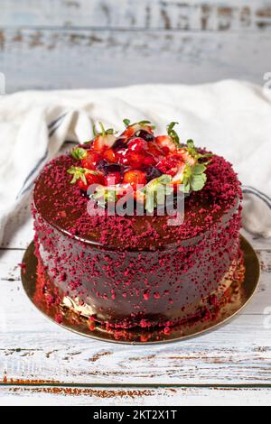
{"label": "white cloth with dark stripes draped behind the cake", "polygon": [[192,138],[222,154],[244,184],[244,226],[271,236],[271,92],[224,80],[0,97],[0,242],[9,217],[62,143],[89,140],[98,121],[121,129],[123,118],[149,119],[158,133],[177,121],[182,142]]}

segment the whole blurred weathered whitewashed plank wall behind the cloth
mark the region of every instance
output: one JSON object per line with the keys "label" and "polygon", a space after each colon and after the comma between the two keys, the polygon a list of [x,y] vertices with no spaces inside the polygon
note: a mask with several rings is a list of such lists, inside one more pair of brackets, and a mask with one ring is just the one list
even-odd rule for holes
{"label": "whole blurred weathered whitewashed plank wall behind the cloth", "polygon": [[264,0],[1,0],[6,91],[201,83],[271,70]]}

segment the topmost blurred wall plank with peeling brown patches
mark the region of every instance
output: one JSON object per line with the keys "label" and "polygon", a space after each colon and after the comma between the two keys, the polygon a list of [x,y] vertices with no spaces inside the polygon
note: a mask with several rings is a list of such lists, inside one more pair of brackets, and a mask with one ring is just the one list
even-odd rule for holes
{"label": "topmost blurred wall plank with peeling brown patches", "polygon": [[0,26],[269,30],[270,7],[250,0],[1,0]]}

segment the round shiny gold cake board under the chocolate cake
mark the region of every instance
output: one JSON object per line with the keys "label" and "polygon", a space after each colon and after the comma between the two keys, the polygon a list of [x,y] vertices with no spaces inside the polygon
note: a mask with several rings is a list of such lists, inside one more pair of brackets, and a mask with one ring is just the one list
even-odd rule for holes
{"label": "round shiny gold cake board under the chocolate cake", "polygon": [[[248,301],[257,291],[259,284],[260,266],[253,247],[248,243],[244,236],[241,237],[241,250],[244,254],[245,277],[241,284],[234,281],[235,286],[229,302],[221,307],[219,313],[210,319],[194,319],[167,328],[155,327],[133,328],[133,329],[108,329],[89,321],[87,318],[80,317],[70,309],[63,308],[61,305],[48,305],[48,302],[42,301],[35,296],[37,290],[37,265],[38,261],[34,255],[33,242],[28,246],[24,255],[21,277],[23,289],[28,298],[33,302],[46,317],[51,318],[55,323],[81,336],[87,336],[102,341],[122,343],[129,345],[143,345],[156,343],[169,343],[187,339],[188,337],[201,336],[203,333],[214,330],[235,317],[243,309]],[[61,318],[61,319],[60,319]]]}

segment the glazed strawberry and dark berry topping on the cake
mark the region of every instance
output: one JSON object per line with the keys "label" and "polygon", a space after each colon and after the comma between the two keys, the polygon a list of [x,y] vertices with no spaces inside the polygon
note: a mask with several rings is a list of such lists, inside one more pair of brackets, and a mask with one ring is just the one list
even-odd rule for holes
{"label": "glazed strawberry and dark berry topping on the cake", "polygon": [[106,130],[99,123],[99,133],[93,127],[93,140],[70,152],[75,160],[68,170],[71,184],[78,184],[85,192],[96,184],[97,190],[92,190],[91,196],[97,201],[101,193],[112,199],[132,191],[146,209],[148,192],[158,185],[162,184],[167,192],[184,193],[204,187],[211,154],[198,151],[192,140],[180,143],[174,129],[178,123],[167,125],[167,134],[157,136],[149,121],[131,124],[125,119],[124,124],[126,129],[117,136],[112,128]]}

